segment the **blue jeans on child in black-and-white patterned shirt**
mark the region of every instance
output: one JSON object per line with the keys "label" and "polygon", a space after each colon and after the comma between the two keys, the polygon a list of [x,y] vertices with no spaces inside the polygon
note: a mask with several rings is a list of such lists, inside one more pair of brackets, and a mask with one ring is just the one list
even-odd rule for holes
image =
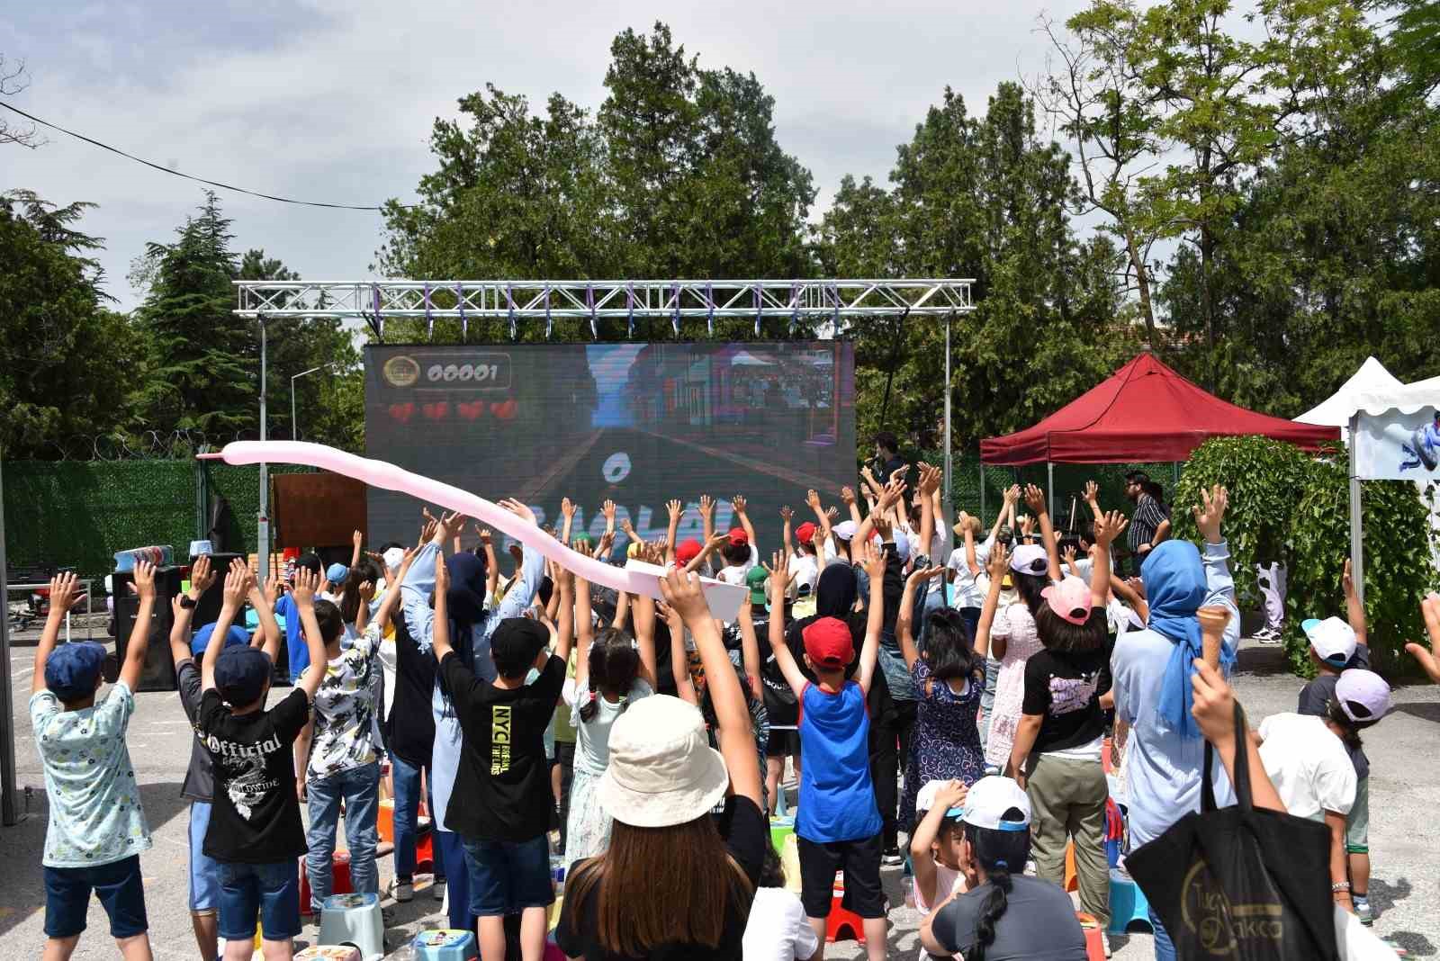
{"label": "blue jeans on child in black-and-white patterned shirt", "polygon": [[308,781],[305,793],[310,796],[310,830],[305,833],[310,853],[305,855],[305,870],[310,873],[311,909],[320,914],[330,896],[341,800],[346,803],[350,883],[357,893],[380,893],[380,873],[374,865],[374,849],[380,843],[376,827],[380,814],[380,765],[372,762]]}

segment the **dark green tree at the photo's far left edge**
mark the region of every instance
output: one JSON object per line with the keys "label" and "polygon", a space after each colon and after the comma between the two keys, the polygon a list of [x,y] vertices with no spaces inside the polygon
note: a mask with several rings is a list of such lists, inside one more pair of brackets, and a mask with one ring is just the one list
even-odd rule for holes
{"label": "dark green tree at the photo's far left edge", "polygon": [[[118,434],[134,417],[138,338],[105,305],[75,224],[94,204],[58,207],[24,190],[0,196],[0,449],[52,457],[75,434]],[[140,368],[143,370],[143,367]]]}

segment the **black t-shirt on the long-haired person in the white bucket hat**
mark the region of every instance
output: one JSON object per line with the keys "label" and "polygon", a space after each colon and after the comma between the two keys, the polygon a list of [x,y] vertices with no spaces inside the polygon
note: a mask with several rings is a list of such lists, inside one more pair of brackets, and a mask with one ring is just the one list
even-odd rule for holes
{"label": "black t-shirt on the long-haired person in the white bucket hat", "polygon": [[[750,903],[755,901],[755,885],[760,879],[760,867],[765,863],[765,846],[770,843],[770,833],[765,824],[765,816],[747,797],[727,798],[724,814],[716,819],[716,826],[724,837],[726,850],[740,865],[740,870],[750,879],[750,895],[732,898],[724,905],[724,928],[720,944],[708,948],[697,944],[662,944],[651,948],[645,955],[651,961],[719,961],[730,958],[742,961],[743,949],[740,939],[744,937],[744,922],[750,916]],[[576,865],[567,880],[566,891],[575,891],[575,878],[583,876],[585,870],[595,862],[580,862]],[[696,865],[696,870],[726,870],[721,865]],[[599,901],[599,882],[590,888],[589,895],[579,903],[575,898],[566,898],[560,906],[560,924],[554,928],[554,941],[572,958],[589,958],[589,961],[629,961],[631,955],[613,954],[600,947],[598,935],[599,919],[596,903]]]}

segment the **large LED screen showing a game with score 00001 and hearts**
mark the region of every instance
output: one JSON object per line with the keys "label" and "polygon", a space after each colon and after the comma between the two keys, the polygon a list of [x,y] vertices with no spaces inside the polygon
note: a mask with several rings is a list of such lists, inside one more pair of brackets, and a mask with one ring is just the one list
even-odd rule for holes
{"label": "large LED screen showing a game with score 00001 and hearts", "polygon": [[[559,527],[598,537],[616,505],[647,541],[665,504],[700,495],[732,527],[744,495],[760,547],[780,542],[780,506],[811,516],[805,492],[837,504],[855,483],[854,348],[848,341],[750,344],[513,344],[366,347],[366,453],[490,501],[517,498]],[[420,505],[372,488],[370,542],[413,542]],[[465,542],[474,542],[474,531]],[[618,537],[616,555],[625,550]],[[508,567],[508,565],[507,565]]]}

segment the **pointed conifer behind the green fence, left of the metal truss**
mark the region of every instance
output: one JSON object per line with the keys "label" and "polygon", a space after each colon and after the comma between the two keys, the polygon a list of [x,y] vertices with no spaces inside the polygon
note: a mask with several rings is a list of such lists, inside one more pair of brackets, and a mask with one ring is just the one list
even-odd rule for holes
{"label": "pointed conifer behind the green fence, left of the metal truss", "polygon": [[258,338],[233,314],[239,259],[230,220],[206,191],[173,243],[150,243],[135,279],[148,283],[137,322],[154,364],[144,386],[151,429],[199,429],[215,440],[255,426]]}

